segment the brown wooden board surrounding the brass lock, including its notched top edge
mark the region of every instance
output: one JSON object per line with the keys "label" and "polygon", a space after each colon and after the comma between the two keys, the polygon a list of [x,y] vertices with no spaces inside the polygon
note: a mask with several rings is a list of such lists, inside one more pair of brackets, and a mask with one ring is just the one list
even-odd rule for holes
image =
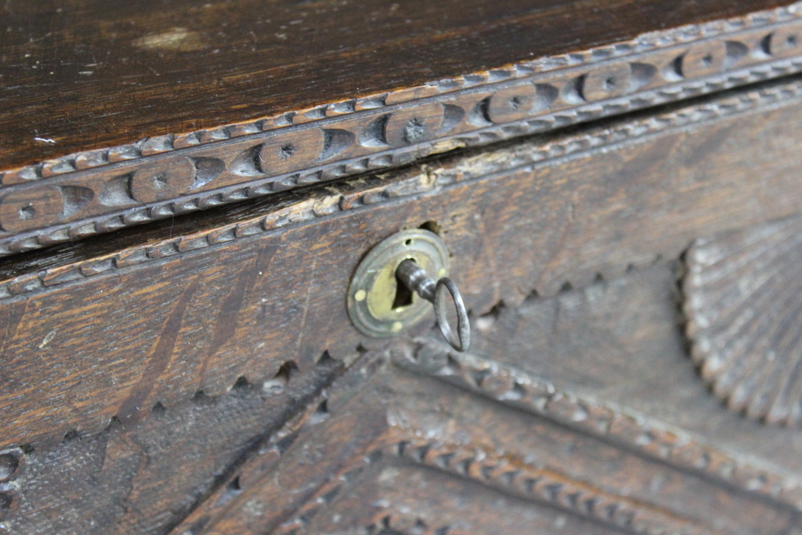
{"label": "brown wooden board surrounding the brass lock, including its notched top edge", "polygon": [[199,389],[219,395],[242,375],[269,379],[287,360],[305,371],[322,351],[370,347],[347,318],[348,282],[367,249],[404,227],[439,227],[478,315],[795,214],[797,85],[8,262],[0,444],[99,432]]}

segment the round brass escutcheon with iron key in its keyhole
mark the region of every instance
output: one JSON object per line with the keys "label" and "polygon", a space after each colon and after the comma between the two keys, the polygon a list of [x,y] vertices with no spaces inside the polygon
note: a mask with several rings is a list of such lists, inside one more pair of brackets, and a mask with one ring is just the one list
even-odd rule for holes
{"label": "round brass escutcheon with iron key in its keyhole", "polygon": [[[396,233],[359,263],[348,289],[348,315],[363,334],[389,338],[420,322],[433,304],[444,337],[465,351],[470,342],[468,314],[448,272],[448,249],[435,233],[424,229]],[[456,333],[446,318],[447,295],[456,308]]]}

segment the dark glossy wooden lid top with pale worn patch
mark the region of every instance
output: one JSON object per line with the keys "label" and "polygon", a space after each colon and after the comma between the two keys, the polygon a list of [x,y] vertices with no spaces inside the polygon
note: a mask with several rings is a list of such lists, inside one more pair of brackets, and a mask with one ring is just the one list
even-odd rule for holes
{"label": "dark glossy wooden lid top with pale worn patch", "polygon": [[0,168],[787,4],[4,2]]}

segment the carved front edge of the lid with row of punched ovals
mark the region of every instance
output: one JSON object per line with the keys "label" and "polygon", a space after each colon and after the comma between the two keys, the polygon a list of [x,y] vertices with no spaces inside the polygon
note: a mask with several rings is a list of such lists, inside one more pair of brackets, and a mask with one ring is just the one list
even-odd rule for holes
{"label": "carved front edge of the lid with row of punched ovals", "polygon": [[0,173],[0,255],[802,71],[802,4]]}

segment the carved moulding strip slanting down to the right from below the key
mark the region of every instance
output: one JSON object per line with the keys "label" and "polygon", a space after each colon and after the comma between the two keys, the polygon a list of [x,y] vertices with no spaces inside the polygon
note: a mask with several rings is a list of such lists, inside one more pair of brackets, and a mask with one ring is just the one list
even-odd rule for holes
{"label": "carved moulding strip slanting down to the right from below the key", "polygon": [[425,342],[416,350],[406,347],[405,351],[396,351],[394,360],[402,367],[802,510],[800,480],[782,474],[779,468],[761,467],[705,444],[683,430],[637,411],[584,399],[497,361],[449,351],[448,347],[432,342]]}

